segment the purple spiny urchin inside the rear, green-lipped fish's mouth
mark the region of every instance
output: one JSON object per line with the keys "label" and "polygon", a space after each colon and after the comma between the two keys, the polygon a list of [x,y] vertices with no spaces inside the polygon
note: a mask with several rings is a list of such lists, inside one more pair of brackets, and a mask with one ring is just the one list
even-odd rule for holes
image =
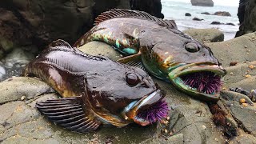
{"label": "purple spiny urchin inside the rear, green-lipped fish's mouth", "polygon": [[206,94],[218,93],[222,86],[221,77],[210,71],[186,74],[181,78],[186,85]]}

